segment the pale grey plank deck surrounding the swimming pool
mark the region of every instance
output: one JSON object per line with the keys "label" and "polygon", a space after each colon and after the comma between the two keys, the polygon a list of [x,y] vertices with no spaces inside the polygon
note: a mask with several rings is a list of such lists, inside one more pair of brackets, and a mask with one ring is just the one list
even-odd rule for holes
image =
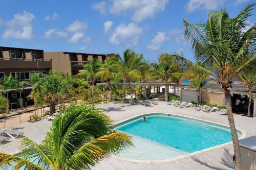
{"label": "pale grey plank deck surrounding the swimming pool", "polygon": [[[104,114],[109,115],[114,123],[121,122],[131,117],[147,113],[169,113],[182,116],[194,117],[223,125],[228,125],[227,116],[223,112],[205,113],[196,111],[194,108],[177,108],[168,106],[165,102],[160,102],[154,107],[144,107],[142,105],[120,107],[119,104],[99,104]],[[256,135],[256,117],[234,114],[237,128],[245,132],[246,137]],[[13,128],[20,128],[25,132],[25,136],[39,143],[49,128],[51,122],[41,120],[36,123],[24,123]],[[0,152],[15,153],[19,150],[21,139],[10,139],[11,142],[0,145]],[[212,150],[204,151],[194,155],[186,156],[176,160],[164,162],[133,162],[118,158],[106,158],[100,161],[92,169],[234,169],[232,162],[232,144],[218,147]]]}

